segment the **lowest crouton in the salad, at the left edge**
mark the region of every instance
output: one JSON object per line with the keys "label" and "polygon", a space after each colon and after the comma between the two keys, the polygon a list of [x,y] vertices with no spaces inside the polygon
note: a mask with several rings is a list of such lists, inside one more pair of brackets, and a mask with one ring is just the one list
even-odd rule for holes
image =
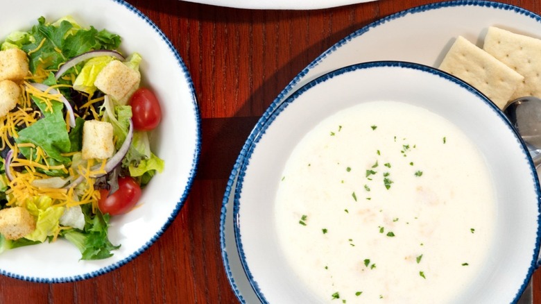
{"label": "lowest crouton in the salad, at the left edge", "polygon": [[35,219],[22,207],[0,210],[0,234],[6,239],[20,239],[35,230]]}

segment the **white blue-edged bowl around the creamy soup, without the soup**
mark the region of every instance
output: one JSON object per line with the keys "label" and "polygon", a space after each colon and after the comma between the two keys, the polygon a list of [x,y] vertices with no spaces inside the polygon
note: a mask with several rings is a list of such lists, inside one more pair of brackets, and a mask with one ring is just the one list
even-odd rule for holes
{"label": "white blue-edged bowl around the creamy soup, without the soup", "polygon": [[[495,185],[495,237],[472,284],[453,303],[517,301],[538,267],[540,244],[541,192],[529,153],[486,96],[438,69],[397,61],[351,65],[316,78],[285,99],[250,135],[235,189],[234,232],[241,264],[259,300],[323,302],[286,260],[277,235],[275,197],[284,165],[304,135],[330,115],[370,101],[400,101],[436,113],[480,151]],[[330,296],[327,300],[334,303]]]}

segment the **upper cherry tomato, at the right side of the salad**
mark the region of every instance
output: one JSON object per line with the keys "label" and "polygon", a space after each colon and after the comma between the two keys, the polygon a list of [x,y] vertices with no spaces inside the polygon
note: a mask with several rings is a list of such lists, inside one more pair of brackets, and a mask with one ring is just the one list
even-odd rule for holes
{"label": "upper cherry tomato, at the right side of the salad", "polygon": [[130,98],[132,106],[133,128],[148,131],[156,128],[162,120],[162,108],[156,95],[145,87],[141,87]]}

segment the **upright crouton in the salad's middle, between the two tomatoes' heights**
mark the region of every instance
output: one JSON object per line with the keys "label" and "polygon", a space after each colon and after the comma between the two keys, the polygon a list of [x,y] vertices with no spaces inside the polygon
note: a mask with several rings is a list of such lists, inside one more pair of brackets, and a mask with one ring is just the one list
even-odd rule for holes
{"label": "upright crouton in the salad's middle, between the two tomatoes' heights", "polygon": [[112,124],[106,121],[89,120],[83,125],[83,160],[104,160],[114,153]]}

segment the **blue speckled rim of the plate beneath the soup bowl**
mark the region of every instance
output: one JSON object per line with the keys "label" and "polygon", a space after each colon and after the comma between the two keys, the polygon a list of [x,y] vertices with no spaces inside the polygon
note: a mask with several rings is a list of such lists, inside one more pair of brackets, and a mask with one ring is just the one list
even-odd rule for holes
{"label": "blue speckled rim of the plate beneath the soup bowl", "polygon": [[[252,132],[248,136],[248,140],[243,145],[243,148],[241,149],[241,152],[239,153],[239,156],[237,158],[237,161],[235,162],[233,169],[230,174],[230,178],[227,181],[227,187],[225,188],[225,194],[223,196],[222,201],[222,209],[220,214],[220,244],[221,244],[221,251],[222,251],[222,259],[224,262],[225,267],[225,273],[227,274],[227,278],[230,282],[230,285],[233,289],[234,294],[237,296],[238,300],[241,303],[246,303],[244,300],[239,288],[237,287],[237,283],[234,281],[234,278],[232,276],[232,270],[230,269],[230,263],[228,261],[227,257],[227,244],[225,243],[225,219],[227,216],[227,207],[230,203],[230,196],[232,192],[235,191],[235,188],[237,186],[237,177],[239,174],[239,168],[241,167],[241,164],[243,162],[243,159],[246,157],[246,153],[248,151],[248,148],[250,147],[251,142],[254,140],[254,137],[259,133],[259,130],[261,129],[261,126],[265,124],[265,121],[268,119],[268,117],[271,116],[271,113],[273,110],[275,110],[280,103],[284,100],[284,96],[287,96],[291,93],[293,90],[293,87],[300,82],[304,76],[308,74],[308,72],[319,65],[321,61],[323,61],[329,54],[336,51],[336,49],[342,47],[344,44],[347,44],[351,40],[353,40],[356,37],[359,37],[363,35],[364,33],[370,31],[372,28],[376,28],[377,26],[380,26],[381,24],[385,24],[386,22],[391,22],[395,19],[400,19],[401,17],[404,17],[409,14],[417,14],[421,12],[426,12],[429,10],[436,10],[441,8],[452,8],[452,7],[458,7],[458,6],[477,6],[477,7],[486,7],[486,8],[495,8],[499,10],[511,10],[513,12],[516,12],[519,15],[524,15],[526,17],[529,17],[531,19],[534,19],[536,22],[539,22],[541,25],[541,17],[539,15],[536,15],[533,12],[530,12],[529,10],[524,10],[524,8],[519,8],[517,6],[512,6],[505,3],[497,3],[492,1],[446,1],[446,2],[440,2],[440,3],[431,3],[424,6],[418,6],[415,8],[410,8],[408,10],[403,10],[401,12],[397,12],[393,15],[389,15],[388,17],[384,17],[382,19],[379,19],[376,22],[373,22],[371,24],[368,24],[367,26],[364,26],[363,28],[360,28],[357,31],[354,31],[350,35],[347,35],[345,38],[334,44],[331,48],[329,48],[327,51],[322,53],[318,58],[316,58],[314,61],[312,61],[307,67],[305,67],[300,73],[293,78],[291,83],[287,85],[282,92],[276,97],[276,99],[271,103],[271,105],[268,107],[266,112],[262,115],[262,117],[257,121],[257,124],[253,128]],[[232,245],[232,244],[230,244]],[[232,248],[230,248],[232,249]],[[524,284],[524,287],[526,286],[526,282]],[[524,289],[524,288],[523,288]],[[520,291],[522,294],[523,289]],[[517,299],[519,296],[517,296]]]}

